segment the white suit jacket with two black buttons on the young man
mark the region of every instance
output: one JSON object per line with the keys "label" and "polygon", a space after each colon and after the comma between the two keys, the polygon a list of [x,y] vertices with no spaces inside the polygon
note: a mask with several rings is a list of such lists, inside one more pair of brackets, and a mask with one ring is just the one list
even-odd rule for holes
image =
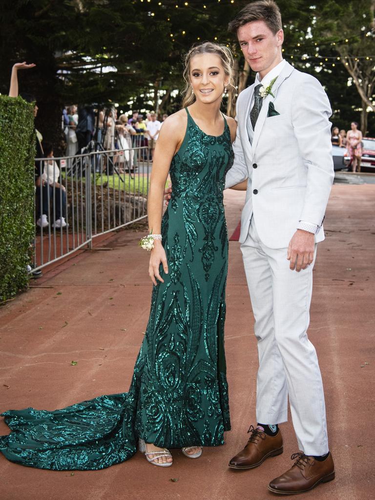
{"label": "white suit jacket with two black buttons on the young man", "polygon": [[[254,86],[237,98],[234,163],[225,178],[225,188],[248,178],[239,241],[252,215],[269,248],[287,247],[299,220],[319,226],[315,241],[321,241],[334,177],[328,97],[316,78],[286,63],[272,86],[274,97],[263,99],[251,144],[246,120]],[[279,115],[267,117],[269,102]]]}

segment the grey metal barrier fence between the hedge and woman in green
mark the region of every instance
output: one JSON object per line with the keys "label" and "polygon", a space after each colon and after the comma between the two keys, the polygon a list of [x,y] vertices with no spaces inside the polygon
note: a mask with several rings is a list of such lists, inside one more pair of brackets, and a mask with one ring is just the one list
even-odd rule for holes
{"label": "grey metal barrier fence between the hedge and woman in green", "polygon": [[150,151],[142,140],[134,136],[129,149],[35,159],[32,270],[147,216]]}

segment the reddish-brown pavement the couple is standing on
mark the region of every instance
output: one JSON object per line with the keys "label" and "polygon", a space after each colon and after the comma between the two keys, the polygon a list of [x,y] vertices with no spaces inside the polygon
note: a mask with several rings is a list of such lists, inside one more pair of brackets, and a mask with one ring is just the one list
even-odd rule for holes
{"label": "reddish-brown pavement the couple is standing on", "polygon": [[[305,493],[316,500],[374,497],[375,185],[335,185],[314,269],[309,337],[319,356],[336,479]],[[229,235],[243,193],[225,192]],[[97,250],[55,266],[0,309],[0,411],[55,409],[126,391],[146,327],[151,284],[139,232],[121,231]],[[106,250],[104,250],[106,248]],[[237,471],[227,462],[255,424],[256,342],[239,244],[230,242],[225,347],[232,430],[198,460],[172,450],[172,467],[137,453],[100,471],[22,467],[0,454],[1,500],[266,500],[266,485],[297,451],[289,419],[284,453]],[[70,362],[77,361],[76,365]],[[0,434],[8,432],[0,419]],[[172,481],[171,479],[176,479]]]}

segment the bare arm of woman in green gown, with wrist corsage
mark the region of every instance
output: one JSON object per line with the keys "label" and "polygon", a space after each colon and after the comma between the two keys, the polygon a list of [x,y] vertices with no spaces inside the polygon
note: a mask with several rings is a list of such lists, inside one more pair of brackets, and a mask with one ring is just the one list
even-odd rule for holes
{"label": "bare arm of woman in green gown, with wrist corsage", "polygon": [[[165,182],[169,173],[170,162],[178,144],[181,142],[182,130],[184,132],[185,127],[186,123],[183,123],[178,113],[168,116],[161,127],[153,156],[147,199],[149,234],[160,234],[161,232]],[[168,272],[168,265],[161,240],[154,239],[153,244],[154,248],[151,250],[148,273],[151,281],[156,285],[156,279],[164,282],[159,273],[160,262],[166,273]]]}

